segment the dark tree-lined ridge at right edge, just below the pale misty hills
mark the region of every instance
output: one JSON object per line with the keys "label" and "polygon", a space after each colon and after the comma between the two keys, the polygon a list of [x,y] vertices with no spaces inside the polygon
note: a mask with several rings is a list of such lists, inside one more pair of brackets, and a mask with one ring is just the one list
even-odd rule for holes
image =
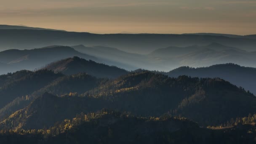
{"label": "dark tree-lined ridge at right edge, just below the pale misty hills", "polygon": [[245,90],[256,93],[256,68],[241,67],[237,64],[217,64],[210,67],[179,67],[170,72],[164,73],[170,77],[188,75],[191,77],[220,77],[230,83],[241,86]]}

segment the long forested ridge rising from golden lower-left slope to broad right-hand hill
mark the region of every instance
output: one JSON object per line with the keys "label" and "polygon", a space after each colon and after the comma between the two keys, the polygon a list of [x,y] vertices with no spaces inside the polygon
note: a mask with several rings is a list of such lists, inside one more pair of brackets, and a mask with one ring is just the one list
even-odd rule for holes
{"label": "long forested ridge rising from golden lower-left slope to broad right-hand hill", "polygon": [[231,118],[255,113],[255,104],[253,94],[218,78],[170,78],[152,72],[130,73],[82,95],[71,93],[57,97],[45,93],[26,108],[13,113],[0,127],[48,128],[81,112],[96,112],[103,108],[146,117],[181,115],[199,125],[220,125]]}

